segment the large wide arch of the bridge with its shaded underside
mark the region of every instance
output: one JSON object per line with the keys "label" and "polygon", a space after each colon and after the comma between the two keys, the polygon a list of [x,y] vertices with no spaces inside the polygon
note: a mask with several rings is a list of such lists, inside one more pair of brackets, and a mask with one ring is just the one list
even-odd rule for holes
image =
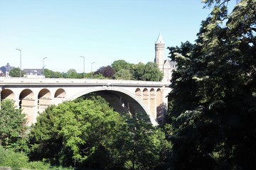
{"label": "large wide arch of the bridge with its shaded underside", "polygon": [[[110,105],[119,113],[128,113],[129,111],[134,111],[135,113],[145,113],[149,115],[149,119],[153,125],[157,125],[154,116],[151,115],[149,109],[140,101],[137,96],[132,94],[130,91],[125,89],[114,87],[114,86],[96,86],[90,89],[86,89],[85,91],[81,91],[78,94],[67,98],[66,101],[73,101],[80,96],[84,96],[86,94],[96,93],[98,95],[103,95]],[[122,101],[122,102],[121,102]]]}

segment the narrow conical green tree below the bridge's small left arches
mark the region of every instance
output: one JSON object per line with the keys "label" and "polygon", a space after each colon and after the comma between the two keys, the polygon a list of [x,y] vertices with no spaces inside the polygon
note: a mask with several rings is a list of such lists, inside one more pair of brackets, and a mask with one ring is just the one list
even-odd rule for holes
{"label": "narrow conical green tree below the bridge's small left arches", "polygon": [[31,152],[29,157],[33,161],[45,159],[50,164],[59,164],[58,157],[61,150],[63,137],[58,135],[58,127],[55,126],[54,112],[56,106],[49,106],[46,111],[36,118],[36,123],[31,126],[29,142]]}

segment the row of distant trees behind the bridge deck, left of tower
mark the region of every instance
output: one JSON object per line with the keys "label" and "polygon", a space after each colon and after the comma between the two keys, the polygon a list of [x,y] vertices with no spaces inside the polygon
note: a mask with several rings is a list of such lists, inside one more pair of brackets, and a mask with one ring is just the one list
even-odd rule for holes
{"label": "row of distant trees behind the bridge deck, left of tower", "polygon": [[[75,69],[69,69],[68,72],[62,73],[45,69],[44,74],[46,78],[82,79],[84,77],[84,73],[78,73]],[[124,60],[117,60],[111,66],[102,66],[96,72],[85,73],[85,79],[161,81],[163,73],[154,62],[130,64]]]}

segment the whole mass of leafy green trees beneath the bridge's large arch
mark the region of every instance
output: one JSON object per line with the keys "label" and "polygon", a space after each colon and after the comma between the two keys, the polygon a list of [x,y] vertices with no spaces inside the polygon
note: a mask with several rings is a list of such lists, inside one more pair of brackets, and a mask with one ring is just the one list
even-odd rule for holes
{"label": "whole mass of leafy green trees beneath the bridge's large arch", "polygon": [[51,106],[31,128],[30,159],[98,169],[158,169],[171,145],[149,118],[121,116],[98,96]]}

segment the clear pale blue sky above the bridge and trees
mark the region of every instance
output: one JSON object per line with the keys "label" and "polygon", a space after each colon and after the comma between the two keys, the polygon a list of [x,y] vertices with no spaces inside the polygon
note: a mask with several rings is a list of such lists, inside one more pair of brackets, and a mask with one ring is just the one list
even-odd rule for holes
{"label": "clear pale blue sky above the bridge and trees", "polygon": [[[0,0],[0,67],[85,72],[126,60],[154,61],[166,47],[193,42],[210,9],[201,0]],[[166,49],[165,59],[168,59]]]}

